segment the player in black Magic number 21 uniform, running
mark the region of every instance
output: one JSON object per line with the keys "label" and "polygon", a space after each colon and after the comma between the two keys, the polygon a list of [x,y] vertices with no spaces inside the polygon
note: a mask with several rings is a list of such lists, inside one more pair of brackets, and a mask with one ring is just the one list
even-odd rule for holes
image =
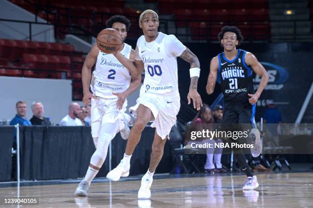
{"label": "player in black Magic number 21 uniform, running", "polygon": [[[235,26],[225,26],[218,34],[218,39],[224,52],[211,60],[210,74],[206,87],[207,93],[214,91],[217,73],[221,80],[221,90],[224,95],[224,110],[221,123],[252,123],[254,124],[255,105],[263,89],[269,81],[269,75],[257,58],[250,52],[237,49],[243,37]],[[254,93],[252,71],[262,77],[257,91]],[[262,150],[258,130],[251,130],[254,138],[253,157],[258,157]],[[242,149],[236,149],[236,158],[242,171],[247,175],[243,190],[257,188],[258,182],[245,160]]]}

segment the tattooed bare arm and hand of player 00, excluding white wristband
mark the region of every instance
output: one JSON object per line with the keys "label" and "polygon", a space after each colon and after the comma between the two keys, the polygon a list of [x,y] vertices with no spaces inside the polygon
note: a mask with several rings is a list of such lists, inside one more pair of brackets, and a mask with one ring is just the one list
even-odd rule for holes
{"label": "tattooed bare arm and hand of player 00, excluding white wristband", "polygon": [[[184,50],[180,57],[190,63],[190,68],[200,68],[198,58],[190,51],[189,48],[186,47],[186,50]],[[191,77],[189,93],[187,95],[188,105],[190,104],[191,98],[193,101],[193,108],[197,109],[197,111],[202,107],[202,100],[199,93],[197,92],[198,79],[199,77],[197,76]]]}

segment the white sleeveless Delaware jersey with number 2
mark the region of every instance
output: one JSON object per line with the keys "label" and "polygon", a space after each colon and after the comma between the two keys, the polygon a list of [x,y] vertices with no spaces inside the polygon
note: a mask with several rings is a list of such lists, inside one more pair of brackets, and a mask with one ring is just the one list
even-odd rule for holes
{"label": "white sleeveless Delaware jersey with number 2", "polygon": [[[129,59],[131,46],[124,43],[121,54]],[[115,98],[112,92],[124,92],[130,84],[130,73],[118,59],[111,54],[99,51],[96,67],[93,72],[91,89],[96,96]]]}

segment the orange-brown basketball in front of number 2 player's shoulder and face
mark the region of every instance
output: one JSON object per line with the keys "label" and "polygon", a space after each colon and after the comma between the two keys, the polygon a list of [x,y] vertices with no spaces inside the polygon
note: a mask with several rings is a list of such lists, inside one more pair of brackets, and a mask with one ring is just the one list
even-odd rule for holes
{"label": "orange-brown basketball in front of number 2 player's shoulder and face", "polygon": [[106,54],[115,53],[121,48],[123,40],[118,31],[107,28],[102,30],[97,36],[98,48]]}

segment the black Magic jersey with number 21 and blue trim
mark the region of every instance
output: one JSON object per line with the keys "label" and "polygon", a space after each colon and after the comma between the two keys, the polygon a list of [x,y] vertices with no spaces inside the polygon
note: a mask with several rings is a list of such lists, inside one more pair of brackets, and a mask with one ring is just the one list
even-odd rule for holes
{"label": "black Magic jersey with number 21 and blue trim", "polygon": [[252,68],[244,62],[246,52],[238,49],[233,60],[228,60],[224,53],[218,55],[218,73],[225,101],[248,100],[248,93],[254,94]]}

